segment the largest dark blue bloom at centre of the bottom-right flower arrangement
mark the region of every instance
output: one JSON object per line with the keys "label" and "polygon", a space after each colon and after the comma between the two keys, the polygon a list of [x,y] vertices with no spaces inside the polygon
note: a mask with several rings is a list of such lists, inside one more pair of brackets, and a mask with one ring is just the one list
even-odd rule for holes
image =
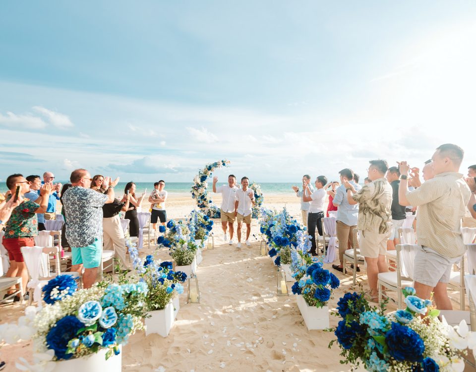
{"label": "largest dark blue bloom at centre of the bottom-right flower arrangement", "polygon": [[392,322],[386,343],[389,354],[397,361],[420,362],[423,359],[425,344],[418,333],[406,325]]}

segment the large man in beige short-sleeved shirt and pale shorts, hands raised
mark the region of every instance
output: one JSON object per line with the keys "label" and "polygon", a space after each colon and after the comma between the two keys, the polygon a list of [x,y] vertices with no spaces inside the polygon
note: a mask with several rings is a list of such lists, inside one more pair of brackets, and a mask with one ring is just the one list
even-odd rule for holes
{"label": "large man in beige short-sleeved shirt and pale shorts, hands raised", "polygon": [[437,309],[452,310],[446,292],[451,267],[465,253],[461,235],[461,219],[465,215],[471,190],[459,173],[464,151],[446,143],[439,146],[431,158],[435,177],[413,191],[408,190],[410,167],[399,162],[402,180],[399,202],[418,207],[416,237],[419,250],[415,256],[416,296],[429,299],[431,292]]}

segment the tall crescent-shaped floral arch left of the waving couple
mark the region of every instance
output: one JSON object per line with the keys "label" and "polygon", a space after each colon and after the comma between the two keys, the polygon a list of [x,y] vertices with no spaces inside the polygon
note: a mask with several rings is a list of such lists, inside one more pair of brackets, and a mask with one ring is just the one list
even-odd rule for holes
{"label": "tall crescent-shaped floral arch left of the waving couple", "polygon": [[228,167],[229,165],[229,160],[207,164],[202,170],[198,171],[198,175],[193,179],[193,186],[190,190],[192,198],[196,200],[198,208],[208,217],[220,218],[220,208],[215,205],[208,194],[207,179],[212,176],[215,169]]}

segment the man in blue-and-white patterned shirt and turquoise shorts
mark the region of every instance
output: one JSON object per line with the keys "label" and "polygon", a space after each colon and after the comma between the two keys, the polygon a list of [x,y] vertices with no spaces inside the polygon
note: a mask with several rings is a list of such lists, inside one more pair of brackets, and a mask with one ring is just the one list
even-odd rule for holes
{"label": "man in blue-and-white patterned shirt and turquoise shorts", "polygon": [[66,213],[66,239],[71,247],[71,271],[81,273],[84,266],[83,287],[90,288],[96,281],[101,263],[103,245],[103,205],[114,201],[111,178],[105,177],[103,194],[91,189],[91,175],[85,169],[76,169],[70,176],[71,187],[62,196]]}

